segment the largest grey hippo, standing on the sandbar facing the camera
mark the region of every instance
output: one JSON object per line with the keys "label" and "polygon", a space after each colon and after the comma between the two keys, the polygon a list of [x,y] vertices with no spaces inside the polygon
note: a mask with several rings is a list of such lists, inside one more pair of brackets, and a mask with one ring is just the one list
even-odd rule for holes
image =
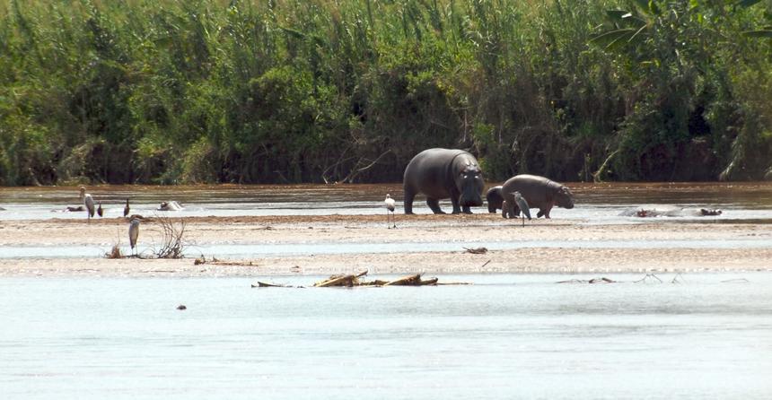
{"label": "largest grey hippo, standing on the sandbar facing the camera", "polygon": [[469,207],[482,205],[485,182],[477,159],[463,150],[428,149],[410,160],[403,180],[405,213],[413,213],[413,199],[426,196],[434,213],[443,213],[439,201],[451,198],[453,213],[471,213]]}

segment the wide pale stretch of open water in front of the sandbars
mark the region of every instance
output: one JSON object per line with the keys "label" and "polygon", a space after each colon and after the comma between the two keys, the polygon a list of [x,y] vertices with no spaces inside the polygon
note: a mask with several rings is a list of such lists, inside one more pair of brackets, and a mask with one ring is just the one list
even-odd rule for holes
{"label": "wide pale stretch of open water in front of the sandbars", "polygon": [[[571,276],[588,279],[596,276]],[[772,274],[0,280],[3,398],[768,398]],[[308,284],[318,277],[278,277]],[[726,282],[733,278],[744,281]],[[178,311],[178,304],[188,309]],[[311,396],[310,396],[311,394]]]}

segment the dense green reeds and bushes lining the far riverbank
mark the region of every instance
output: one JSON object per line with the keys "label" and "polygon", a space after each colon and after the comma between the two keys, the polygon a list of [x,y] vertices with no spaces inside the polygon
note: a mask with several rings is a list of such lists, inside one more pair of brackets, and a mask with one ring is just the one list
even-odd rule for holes
{"label": "dense green reeds and bushes lining the far riverbank", "polygon": [[6,0],[0,184],[772,177],[772,2]]}

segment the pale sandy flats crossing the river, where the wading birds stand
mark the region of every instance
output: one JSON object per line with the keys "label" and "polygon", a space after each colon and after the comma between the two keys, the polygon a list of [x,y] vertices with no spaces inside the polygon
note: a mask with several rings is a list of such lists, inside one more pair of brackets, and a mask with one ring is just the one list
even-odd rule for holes
{"label": "pale sandy flats crossing the river, where the wading birds stand", "polygon": [[[772,225],[652,222],[592,225],[584,222],[534,220],[505,222],[497,215],[398,215],[398,229],[387,230],[385,216],[324,215],[271,217],[201,217],[185,220],[191,246],[237,244],[271,246],[325,243],[393,243],[392,253],[250,257],[229,264],[194,265],[177,260],[93,258],[10,258],[0,261],[0,276],[261,276],[334,274],[368,269],[371,274],[474,273],[611,273],[772,271]],[[140,241],[159,244],[161,227],[142,224]],[[701,240],[759,239],[762,248],[698,248]],[[566,248],[405,252],[401,243],[502,239],[566,242]],[[588,248],[581,243],[612,240],[680,240],[694,248]],[[92,223],[45,220],[0,223],[0,246],[96,246],[108,251],[127,243],[127,222],[102,219]],[[576,243],[579,243],[578,245]],[[571,244],[571,246],[568,246]],[[205,254],[205,256],[208,256]],[[210,258],[211,259],[211,258]]]}

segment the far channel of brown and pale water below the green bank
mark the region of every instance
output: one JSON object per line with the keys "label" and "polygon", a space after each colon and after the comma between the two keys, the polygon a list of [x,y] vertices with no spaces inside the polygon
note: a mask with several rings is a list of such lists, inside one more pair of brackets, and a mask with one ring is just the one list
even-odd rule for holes
{"label": "far channel of brown and pale water below the green bank", "polygon": [[[491,184],[493,185],[493,184]],[[576,196],[573,210],[556,208],[553,218],[602,223],[639,222],[634,216],[620,215],[631,207],[658,206],[688,209],[722,209],[723,220],[772,219],[772,183],[689,183],[689,184],[568,184]],[[106,208],[106,216],[123,215],[123,204],[131,199],[132,213],[152,214],[164,201],[174,200],[186,208],[180,216],[240,215],[323,215],[383,213],[386,193],[398,200],[401,209],[402,187],[392,185],[289,185],[289,186],[98,186],[90,193]],[[4,187],[0,188],[0,220],[83,218],[84,213],[64,213],[66,205],[78,205],[76,187]],[[451,204],[441,204],[450,211]],[[475,213],[487,208],[475,207]],[[416,213],[430,213],[422,198],[415,203]],[[673,217],[657,220],[671,220]],[[685,213],[680,220],[694,220]],[[646,220],[650,221],[650,220]]]}

